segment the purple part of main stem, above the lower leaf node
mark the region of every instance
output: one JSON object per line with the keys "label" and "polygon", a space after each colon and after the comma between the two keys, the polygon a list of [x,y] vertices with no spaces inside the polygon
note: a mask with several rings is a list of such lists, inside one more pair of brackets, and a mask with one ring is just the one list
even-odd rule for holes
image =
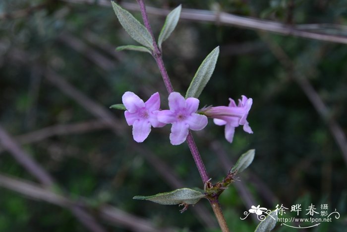
{"label": "purple part of main stem, above the lower leaf node", "polygon": [[[173,92],[173,85],[171,84],[170,78],[168,73],[166,72],[165,66],[164,66],[164,62],[163,62],[163,56],[161,51],[158,48],[157,42],[154,38],[153,35],[153,31],[151,28],[151,25],[149,24],[149,20],[148,20],[148,16],[147,16],[147,12],[146,12],[146,6],[144,3],[144,0],[137,0],[137,2],[140,5],[140,9],[141,9],[141,15],[143,18],[143,22],[145,24],[145,27],[147,28],[147,30],[149,31],[149,33],[151,34],[152,38],[153,38],[153,47],[154,47],[154,51],[153,51],[153,57],[157,62],[158,68],[160,70],[160,73],[163,77],[166,89],[168,90],[169,94]],[[188,143],[188,147],[190,149],[191,154],[193,155],[195,164],[199,170],[202,182],[205,184],[208,180],[209,180],[209,176],[207,174],[204,162],[201,159],[201,156],[199,154],[198,148],[195,145],[194,139],[192,134],[189,132],[188,136],[187,136],[187,143]]]}

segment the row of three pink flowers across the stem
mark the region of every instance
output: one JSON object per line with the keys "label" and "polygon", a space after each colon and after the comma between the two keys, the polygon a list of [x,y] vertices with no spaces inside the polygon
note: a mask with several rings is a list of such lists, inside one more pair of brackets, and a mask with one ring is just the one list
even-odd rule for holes
{"label": "row of three pink flowers across the stem", "polygon": [[143,142],[151,132],[152,127],[163,127],[172,124],[170,142],[173,145],[182,144],[189,129],[199,131],[206,127],[207,117],[213,118],[217,125],[225,125],[226,139],[231,143],[235,127],[243,125],[243,130],[253,133],[247,122],[247,115],[252,106],[252,98],[242,96],[238,105],[230,99],[229,106],[209,107],[200,110],[199,99],[185,99],[180,93],[169,95],[169,110],[160,110],[159,93],[154,93],[146,102],[133,92],[125,92],[122,102],[126,108],[124,116],[136,142]]}

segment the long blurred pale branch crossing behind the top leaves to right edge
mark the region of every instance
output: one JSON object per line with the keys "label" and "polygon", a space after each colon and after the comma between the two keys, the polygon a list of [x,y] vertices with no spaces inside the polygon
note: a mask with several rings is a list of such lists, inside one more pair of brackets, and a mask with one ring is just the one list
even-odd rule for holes
{"label": "long blurred pale branch crossing behind the top leaves to right edge", "polygon": [[[108,0],[61,0],[69,3],[81,3],[81,4],[99,4],[102,6],[108,6],[111,8],[111,3]],[[121,5],[128,10],[139,11],[139,7],[135,3],[121,2]],[[166,16],[170,11],[166,9],[156,8],[146,6],[147,12],[153,15]],[[191,21],[204,21],[204,22],[214,22],[224,25],[238,26],[242,28],[248,28],[252,30],[268,31],[282,35],[298,36],[303,38],[343,43],[347,44],[347,36],[328,34],[328,33],[318,33],[312,31],[306,31],[299,29],[299,25],[287,25],[283,23],[278,23],[275,21],[262,20],[250,17],[237,16],[230,13],[210,11],[210,10],[198,10],[198,9],[182,9],[181,19],[187,19]],[[324,24],[326,25],[326,24]],[[336,26],[337,27],[337,26]],[[327,30],[325,30],[327,31]],[[347,31],[340,31],[340,33],[347,34]]]}

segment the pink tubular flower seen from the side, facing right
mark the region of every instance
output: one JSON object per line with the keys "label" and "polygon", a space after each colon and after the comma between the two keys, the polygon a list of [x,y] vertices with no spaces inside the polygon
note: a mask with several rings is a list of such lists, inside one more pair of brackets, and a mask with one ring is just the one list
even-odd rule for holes
{"label": "pink tubular flower seen from the side, facing right", "polygon": [[248,112],[252,106],[252,98],[242,95],[242,99],[238,99],[238,105],[234,100],[229,98],[229,106],[216,106],[208,108],[204,114],[213,118],[216,125],[225,125],[225,137],[228,142],[232,143],[235,128],[243,125],[243,130],[249,134],[253,134],[252,129],[247,122]]}

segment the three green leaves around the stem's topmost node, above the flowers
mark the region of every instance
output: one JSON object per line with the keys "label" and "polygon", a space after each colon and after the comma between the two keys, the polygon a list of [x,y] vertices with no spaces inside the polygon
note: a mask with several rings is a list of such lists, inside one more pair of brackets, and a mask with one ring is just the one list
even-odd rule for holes
{"label": "three green leaves around the stem's topmost node, above the flowers", "polygon": [[[132,50],[139,52],[149,52],[150,54],[152,54],[152,51],[154,51],[154,41],[147,28],[144,27],[129,11],[123,9],[114,1],[112,1],[112,7],[115,10],[116,16],[125,31],[131,36],[131,38],[143,45],[125,45],[117,47],[117,50]],[[160,49],[162,47],[162,43],[169,38],[174,28],[176,27],[181,8],[181,5],[177,6],[166,17],[164,26],[158,38],[158,46]]]}

